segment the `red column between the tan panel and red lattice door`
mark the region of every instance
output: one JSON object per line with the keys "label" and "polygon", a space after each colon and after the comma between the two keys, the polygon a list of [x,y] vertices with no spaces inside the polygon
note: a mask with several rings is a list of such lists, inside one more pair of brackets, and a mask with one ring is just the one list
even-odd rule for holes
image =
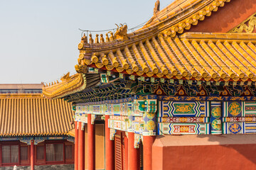
{"label": "red column between the tan panel and red lattice door", "polygon": [[114,140],[110,140],[109,118],[110,115],[105,115],[105,160],[106,170],[114,170]]}

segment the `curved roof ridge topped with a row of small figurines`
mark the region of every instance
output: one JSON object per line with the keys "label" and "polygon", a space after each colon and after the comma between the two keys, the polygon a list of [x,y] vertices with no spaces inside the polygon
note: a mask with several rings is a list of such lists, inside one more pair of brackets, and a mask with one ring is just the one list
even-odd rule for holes
{"label": "curved roof ridge topped with a row of small figurines", "polygon": [[[152,36],[157,36],[159,33],[175,37],[177,34],[183,33],[184,30],[189,30],[191,25],[197,25],[198,21],[203,21],[206,16],[210,16],[212,11],[218,11],[218,7],[224,6],[224,3],[230,0],[178,0],[174,1],[166,8],[158,11],[139,30],[127,34],[127,25],[119,26],[116,33],[111,33],[110,38],[106,34],[106,40],[104,40],[101,34],[101,40],[98,40],[98,35],[95,41],[90,35],[90,40],[87,40],[87,36],[81,38],[81,42],[78,44],[78,50],[80,50],[80,57],[85,57],[85,54],[92,55],[93,52],[100,52],[104,50],[112,50],[124,45],[129,45],[133,42],[139,42],[140,40],[146,40]],[[174,4],[176,4],[174,6]],[[182,5],[181,5],[182,4]],[[170,11],[168,8],[174,6]],[[118,33],[117,33],[118,32]],[[117,36],[118,35],[118,36]],[[92,54],[90,54],[92,53]],[[82,56],[83,55],[83,56]]]}

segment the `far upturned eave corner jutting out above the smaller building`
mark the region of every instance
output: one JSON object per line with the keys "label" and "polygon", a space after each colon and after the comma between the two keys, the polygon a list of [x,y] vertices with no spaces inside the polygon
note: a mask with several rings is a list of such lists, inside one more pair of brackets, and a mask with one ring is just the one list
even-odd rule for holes
{"label": "far upturned eave corner jutting out above the smaller building", "polygon": [[75,94],[86,87],[95,86],[100,81],[99,74],[75,74],[65,76],[62,81],[51,86],[43,87],[43,96],[46,98],[61,98],[69,94]]}

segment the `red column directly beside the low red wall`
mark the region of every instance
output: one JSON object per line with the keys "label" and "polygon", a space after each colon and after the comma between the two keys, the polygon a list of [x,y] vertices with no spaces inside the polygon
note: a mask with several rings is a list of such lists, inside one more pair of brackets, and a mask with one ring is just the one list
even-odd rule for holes
{"label": "red column directly beside the low red wall", "polygon": [[143,136],[143,169],[152,169],[152,146],[156,136]]}

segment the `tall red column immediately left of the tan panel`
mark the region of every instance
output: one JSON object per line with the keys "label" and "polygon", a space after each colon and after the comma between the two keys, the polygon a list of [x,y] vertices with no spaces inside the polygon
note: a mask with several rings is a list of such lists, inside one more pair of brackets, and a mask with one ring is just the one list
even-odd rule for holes
{"label": "tall red column immediately left of the tan panel", "polygon": [[91,114],[87,114],[87,138],[88,170],[95,170],[95,125]]}

